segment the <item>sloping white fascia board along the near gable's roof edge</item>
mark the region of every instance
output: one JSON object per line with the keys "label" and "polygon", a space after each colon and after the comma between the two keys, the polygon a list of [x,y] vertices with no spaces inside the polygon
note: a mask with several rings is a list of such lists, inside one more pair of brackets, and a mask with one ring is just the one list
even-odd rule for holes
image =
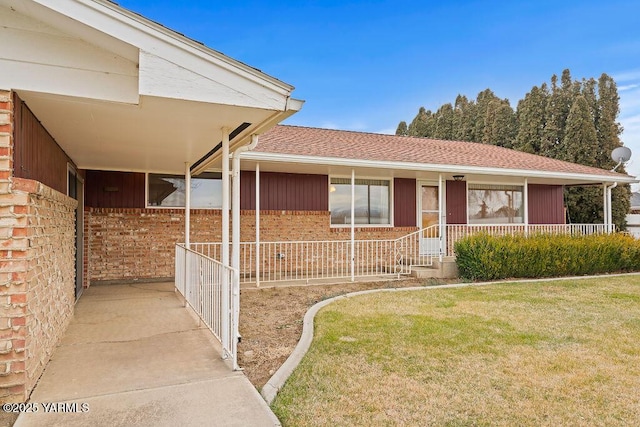
{"label": "sloping white fascia board along the near gable's roof edge", "polygon": [[[183,68],[196,74],[207,76],[211,75],[212,71],[223,69],[227,73],[216,76],[220,78],[219,82],[223,85],[235,87],[234,80],[237,77],[234,76],[253,82],[256,86],[274,92],[271,97],[279,98],[278,109],[284,110],[287,97],[293,91],[291,85],[107,0],[33,1],[136,46],[140,50],[164,58],[174,64],[180,64]],[[267,105],[270,104],[268,99],[265,102]]]}

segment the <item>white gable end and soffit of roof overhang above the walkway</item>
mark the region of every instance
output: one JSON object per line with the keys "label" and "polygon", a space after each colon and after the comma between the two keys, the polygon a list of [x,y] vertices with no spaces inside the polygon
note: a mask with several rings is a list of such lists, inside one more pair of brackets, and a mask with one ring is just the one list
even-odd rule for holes
{"label": "white gable end and soffit of roof overhang above the walkway", "polygon": [[[302,107],[293,87],[106,0],[0,0],[0,88],[83,169],[179,173]],[[207,164],[219,158],[207,160]]]}

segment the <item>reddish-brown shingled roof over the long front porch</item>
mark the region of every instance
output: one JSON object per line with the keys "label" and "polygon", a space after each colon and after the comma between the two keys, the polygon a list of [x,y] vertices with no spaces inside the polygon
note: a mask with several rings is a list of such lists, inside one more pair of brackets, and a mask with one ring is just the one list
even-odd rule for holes
{"label": "reddish-brown shingled roof over the long front porch", "polygon": [[425,163],[625,177],[608,170],[475,142],[278,125],[255,151],[380,162]]}

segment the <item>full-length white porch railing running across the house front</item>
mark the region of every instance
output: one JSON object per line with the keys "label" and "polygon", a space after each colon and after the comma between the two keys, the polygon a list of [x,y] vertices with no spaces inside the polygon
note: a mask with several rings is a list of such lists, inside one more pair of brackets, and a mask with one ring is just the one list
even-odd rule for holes
{"label": "full-length white porch railing running across the house front", "polygon": [[[586,235],[606,233],[607,229],[603,224],[433,225],[394,240],[356,240],[353,274],[350,240],[260,242],[258,262],[256,243],[243,242],[240,243],[239,280],[241,283],[256,282],[256,279],[259,282],[309,281],[344,279],[352,275],[410,274],[414,267],[433,265],[434,257],[454,256],[455,242],[479,232]],[[207,258],[220,260],[220,243],[192,243],[191,248]]]}

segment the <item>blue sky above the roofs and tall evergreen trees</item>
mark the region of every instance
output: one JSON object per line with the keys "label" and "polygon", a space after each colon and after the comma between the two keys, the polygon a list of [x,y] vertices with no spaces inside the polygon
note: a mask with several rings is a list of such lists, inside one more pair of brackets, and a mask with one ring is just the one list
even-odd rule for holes
{"label": "blue sky above the roofs and tall evergreen trees", "polygon": [[[288,124],[394,133],[491,88],[516,103],[569,68],[614,77],[640,175],[640,2],[119,0],[296,87]],[[635,159],[635,160],[634,160]]]}

